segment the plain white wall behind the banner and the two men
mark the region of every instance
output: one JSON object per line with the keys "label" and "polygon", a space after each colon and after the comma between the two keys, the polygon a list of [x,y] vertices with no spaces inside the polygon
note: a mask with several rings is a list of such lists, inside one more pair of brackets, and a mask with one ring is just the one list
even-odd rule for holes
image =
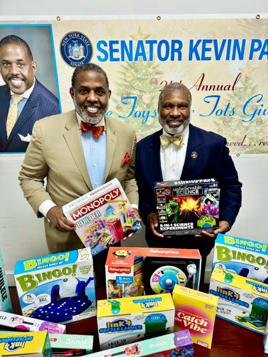
{"label": "plain white wall behind the banner and the two men", "polygon": [[[109,15],[109,14],[261,14],[268,13],[267,0],[18,0],[0,2],[1,16],[26,15]],[[46,254],[42,219],[37,219],[23,198],[17,176],[23,157],[0,158],[0,243],[9,283],[13,283],[16,260]],[[242,208],[231,235],[267,243],[268,173],[267,156],[234,157],[242,188]],[[145,246],[144,231],[138,232],[124,244]],[[212,254],[207,262],[207,281],[211,268]]]}

